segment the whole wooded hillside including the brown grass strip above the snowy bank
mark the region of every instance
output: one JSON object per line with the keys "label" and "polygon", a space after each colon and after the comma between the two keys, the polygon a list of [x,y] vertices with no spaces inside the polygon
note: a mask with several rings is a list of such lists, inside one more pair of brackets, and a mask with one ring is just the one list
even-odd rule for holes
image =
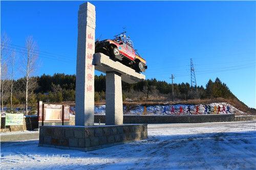
{"label": "whole wooded hillside including the brown grass strip above the snowy bank", "polygon": [[[29,95],[29,106],[36,110],[37,101],[45,103],[70,103],[75,101],[75,75],[54,74],[33,77],[36,83]],[[4,82],[5,87],[10,87],[10,80]],[[13,106],[23,107],[25,104],[25,87],[23,79],[15,80],[13,87]],[[172,84],[156,79],[147,79],[135,84],[122,82],[123,102],[126,106],[135,105],[166,105],[166,104],[209,104],[228,103],[246,114],[256,114],[255,109],[250,109],[241,102],[219,78],[211,80],[204,86],[190,86],[189,83],[175,83],[174,94]],[[174,98],[175,102],[172,102]],[[95,103],[103,105],[105,100],[105,76],[95,76]],[[10,107],[10,91],[3,91],[3,105]]]}

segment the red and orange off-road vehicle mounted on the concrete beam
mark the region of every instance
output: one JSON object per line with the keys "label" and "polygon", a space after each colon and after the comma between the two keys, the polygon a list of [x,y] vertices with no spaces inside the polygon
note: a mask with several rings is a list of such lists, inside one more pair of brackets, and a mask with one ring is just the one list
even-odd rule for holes
{"label": "red and orange off-road vehicle mounted on the concrete beam", "polygon": [[122,64],[144,72],[147,68],[146,61],[139,56],[131,44],[123,42],[121,39],[106,39],[95,42],[95,53],[103,53],[113,60],[118,60]]}

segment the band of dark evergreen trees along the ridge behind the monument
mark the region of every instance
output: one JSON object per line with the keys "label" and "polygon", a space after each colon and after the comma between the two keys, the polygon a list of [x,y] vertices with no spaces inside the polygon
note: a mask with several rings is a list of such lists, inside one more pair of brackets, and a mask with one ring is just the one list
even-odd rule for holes
{"label": "band of dark evergreen trees along the ridge behind the monument", "polygon": [[[54,74],[53,76],[42,75],[36,77],[38,86],[35,88],[34,92],[38,93],[49,93],[58,91],[73,91],[75,90],[75,75],[65,75],[65,74]],[[172,97],[172,84],[165,81],[157,81],[156,79],[145,80],[138,82],[136,84],[128,84],[122,82],[123,92],[135,93],[134,96],[130,98],[135,98],[136,92],[145,93],[148,95],[161,95],[169,94]],[[95,76],[95,91],[104,94],[105,91],[105,76]],[[71,92],[73,93],[73,92]],[[208,81],[206,87],[198,86],[190,87],[188,83],[174,84],[174,96],[178,100],[188,100],[188,99],[207,99],[207,98],[225,98],[233,99],[236,98],[229,90],[225,83],[222,83],[219,78],[216,78],[214,82]],[[104,98],[104,95],[100,96]],[[68,100],[68,99],[63,99]]]}

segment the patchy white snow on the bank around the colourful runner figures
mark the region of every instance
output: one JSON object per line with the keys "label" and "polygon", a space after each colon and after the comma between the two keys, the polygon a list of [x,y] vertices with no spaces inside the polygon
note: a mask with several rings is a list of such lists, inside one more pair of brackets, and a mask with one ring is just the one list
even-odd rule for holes
{"label": "patchy white snow on the bank around the colourful runner figures", "polygon": [[[196,112],[196,106],[195,105],[179,105],[179,104],[177,104],[177,105],[173,105],[173,106],[175,108],[175,114],[179,113],[180,106],[183,108],[183,111],[184,111],[181,114],[186,114],[188,106],[191,107],[191,113],[192,114],[194,114]],[[221,112],[220,113],[226,114],[225,112],[222,112],[222,107],[225,106],[225,109],[226,109],[227,106],[229,106],[231,113],[236,113],[238,115],[245,115],[246,114],[246,113],[238,110],[237,108],[235,108],[232,105],[229,105],[227,103],[210,103],[210,104],[207,104],[207,106],[211,107],[212,112],[210,114],[214,114],[213,111],[214,111],[215,106],[217,107],[217,110],[218,110],[218,106],[221,107]],[[166,109],[166,112],[164,113],[165,115],[172,114],[170,112],[172,110],[172,105],[147,106],[146,107],[146,114],[161,115],[161,114],[163,114],[164,107]],[[204,114],[204,110],[205,110],[204,107],[205,107],[204,105],[199,105],[199,113],[200,114]],[[95,114],[105,114],[105,105],[95,106],[94,111],[95,111]],[[136,105],[136,106],[133,106],[133,107],[123,106],[123,113],[124,114],[143,114],[143,111],[144,111],[144,106],[142,106],[142,105]]]}

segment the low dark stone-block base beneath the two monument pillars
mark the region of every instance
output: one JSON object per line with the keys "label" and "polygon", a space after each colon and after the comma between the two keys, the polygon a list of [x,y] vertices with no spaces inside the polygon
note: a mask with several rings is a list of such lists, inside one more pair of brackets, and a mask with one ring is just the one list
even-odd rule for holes
{"label": "low dark stone-block base beneath the two monument pillars", "polygon": [[39,147],[92,151],[147,138],[147,125],[40,126]]}

